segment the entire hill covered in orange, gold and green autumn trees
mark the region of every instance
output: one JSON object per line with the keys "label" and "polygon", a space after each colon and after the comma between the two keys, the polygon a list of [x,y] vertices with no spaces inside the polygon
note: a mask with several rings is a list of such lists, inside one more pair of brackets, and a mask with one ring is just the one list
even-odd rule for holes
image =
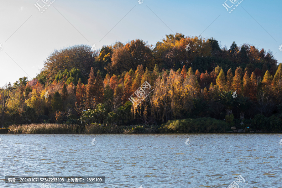
{"label": "entire hill covered in orange, gold and green autumn trees", "polygon": [[249,44],[227,49],[213,38],[170,34],[155,46],[140,39],[101,50],[76,45],[55,50],[33,80],[0,88],[0,127],[210,117],[230,126],[252,118],[253,129],[277,131],[281,94],[282,64]]}

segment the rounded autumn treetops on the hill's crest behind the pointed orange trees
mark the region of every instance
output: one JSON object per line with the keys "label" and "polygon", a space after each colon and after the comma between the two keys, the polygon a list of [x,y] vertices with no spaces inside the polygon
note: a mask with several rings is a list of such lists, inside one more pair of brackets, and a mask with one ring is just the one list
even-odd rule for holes
{"label": "rounded autumn treetops on the hill's crest behind the pointed orange trees", "polygon": [[[186,46],[189,47],[185,50]],[[227,73],[229,69],[234,73],[237,67],[256,76],[264,76],[266,70],[274,76],[278,67],[272,52],[257,49],[250,44],[238,47],[235,42],[229,49],[220,48],[218,41],[203,39],[201,37],[185,37],[183,34],[166,35],[166,39],[155,46],[143,40],[132,40],[127,44],[116,42],[112,46],[103,46],[101,50],[91,50],[91,46],[77,45],[53,52],[44,62],[44,68],[37,76],[41,84],[50,84],[57,81],[67,81],[62,75],[67,76],[70,83],[76,85],[77,78],[86,84],[91,67],[94,72],[101,72],[102,78],[107,74],[121,75],[130,69],[136,70],[138,65],[143,65],[144,70],[154,70],[157,64],[160,70],[178,70],[192,67],[193,71],[212,72],[219,66]],[[74,76],[75,75],[75,76]]]}

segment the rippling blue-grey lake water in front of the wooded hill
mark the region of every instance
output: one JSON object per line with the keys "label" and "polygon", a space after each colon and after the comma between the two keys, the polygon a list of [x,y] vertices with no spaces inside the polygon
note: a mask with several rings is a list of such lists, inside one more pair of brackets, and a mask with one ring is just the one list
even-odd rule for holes
{"label": "rippling blue-grey lake water in front of the wooded hill", "polygon": [[[282,134],[0,134],[4,176],[105,176],[60,187],[282,187]],[[91,140],[95,138],[95,145]],[[189,138],[185,144],[185,140]],[[0,141],[1,143],[1,141]],[[189,144],[190,143],[190,144]],[[49,187],[48,187],[49,188]]]}

